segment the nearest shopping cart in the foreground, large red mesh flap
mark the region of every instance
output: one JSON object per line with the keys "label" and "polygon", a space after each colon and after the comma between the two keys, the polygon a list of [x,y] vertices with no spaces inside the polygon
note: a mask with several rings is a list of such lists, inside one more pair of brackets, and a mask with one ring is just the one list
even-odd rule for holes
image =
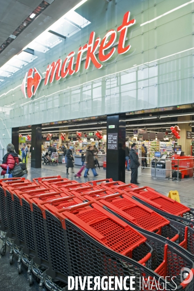
{"label": "nearest shopping cart in the foreground, large red mesh flap", "polygon": [[[47,220],[53,209],[47,204],[45,208]],[[144,276],[146,279],[155,277],[156,281],[160,276],[177,276],[177,290],[182,290],[184,284],[181,283],[181,269],[190,265],[191,273],[194,273],[194,262],[165,242],[151,235],[146,235],[145,241],[144,236],[139,236],[136,232],[129,238],[129,231],[132,233],[134,229],[128,228],[128,224],[123,224],[111,213],[108,214],[95,201],[63,208],[55,214],[64,229],[64,241],[73,276],[136,275],[138,278]],[[50,229],[51,232],[54,227]],[[136,245],[137,242],[139,246]],[[146,256],[147,249],[142,251],[141,248],[145,242],[149,242],[153,249]],[[140,258],[143,258],[141,263],[137,262]],[[135,290],[142,288],[139,283],[137,282]],[[189,284],[191,285],[184,287],[192,290],[193,281]],[[167,286],[169,290],[175,289],[172,281],[167,282]]]}

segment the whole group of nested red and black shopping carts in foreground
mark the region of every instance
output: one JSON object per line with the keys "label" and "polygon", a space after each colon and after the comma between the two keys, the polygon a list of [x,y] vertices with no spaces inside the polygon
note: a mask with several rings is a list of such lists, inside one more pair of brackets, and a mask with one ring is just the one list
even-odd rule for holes
{"label": "whole group of nested red and black shopping carts in foreground", "polygon": [[26,267],[29,285],[35,275],[39,291],[68,290],[68,276],[135,276],[135,290],[154,280],[151,290],[194,291],[194,210],[149,187],[1,179],[0,239],[0,255],[8,246],[10,264],[17,259],[18,274]]}

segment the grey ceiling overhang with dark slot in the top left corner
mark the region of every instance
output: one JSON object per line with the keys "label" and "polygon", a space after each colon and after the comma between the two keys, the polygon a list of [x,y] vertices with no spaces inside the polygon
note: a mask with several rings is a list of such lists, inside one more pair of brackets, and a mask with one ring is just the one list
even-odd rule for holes
{"label": "grey ceiling overhang with dark slot in the top left corner", "polygon": [[0,53],[0,67],[77,5],[80,0],[0,0],[0,46],[9,40],[10,35],[13,35],[18,28],[22,28],[24,21],[38,7],[41,7],[42,2],[47,2],[49,5],[46,5],[43,12],[26,25],[25,29],[16,34],[16,38],[11,38],[9,45]]}

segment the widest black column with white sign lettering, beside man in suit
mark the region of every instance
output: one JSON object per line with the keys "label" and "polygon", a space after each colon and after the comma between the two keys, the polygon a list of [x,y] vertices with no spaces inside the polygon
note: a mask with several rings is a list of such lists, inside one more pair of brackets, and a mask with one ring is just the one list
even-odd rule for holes
{"label": "widest black column with white sign lettering, beside man in suit", "polygon": [[125,182],[126,114],[107,115],[106,178]]}

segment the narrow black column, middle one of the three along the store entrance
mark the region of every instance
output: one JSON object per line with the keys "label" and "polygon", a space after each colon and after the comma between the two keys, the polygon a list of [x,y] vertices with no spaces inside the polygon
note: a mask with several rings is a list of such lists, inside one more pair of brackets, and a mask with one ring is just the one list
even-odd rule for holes
{"label": "narrow black column, middle one of the three along the store entrance", "polygon": [[42,124],[32,125],[31,167],[41,168]]}

